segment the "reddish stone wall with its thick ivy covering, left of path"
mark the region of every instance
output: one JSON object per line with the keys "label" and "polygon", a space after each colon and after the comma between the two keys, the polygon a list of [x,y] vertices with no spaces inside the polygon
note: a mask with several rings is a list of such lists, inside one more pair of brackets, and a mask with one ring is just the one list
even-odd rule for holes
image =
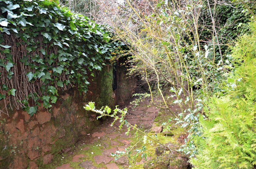
{"label": "reddish stone wall with its thick ivy covering, left of path", "polygon": [[50,163],[100,122],[86,102],[114,107],[111,37],[51,0],[0,0],[0,168]]}

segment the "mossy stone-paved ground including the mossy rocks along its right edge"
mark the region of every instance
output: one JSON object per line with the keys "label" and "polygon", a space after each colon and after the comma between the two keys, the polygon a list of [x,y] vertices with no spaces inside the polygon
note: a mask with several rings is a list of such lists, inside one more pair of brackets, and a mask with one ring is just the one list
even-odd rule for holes
{"label": "mossy stone-paved ground including the mossy rocks along its right edge", "polygon": [[[171,131],[166,133],[162,122],[168,121],[171,115],[156,107],[150,105],[149,100],[140,102],[138,107],[133,108],[127,105],[128,114],[126,120],[130,124],[136,124],[138,127],[156,138],[159,142],[178,148],[182,144],[186,133],[178,126],[174,126],[175,121],[171,121],[168,126]],[[178,112],[178,107],[173,107]],[[135,136],[135,131],[131,130],[129,135],[125,135],[126,127],[119,129],[119,122],[115,122],[111,127],[113,119],[108,118],[91,134],[88,134],[83,140],[74,147],[68,148],[62,154],[53,159],[51,164],[44,168],[56,169],[122,169],[122,168],[187,168],[187,160],[184,156],[173,151],[161,151],[160,144],[147,140],[146,144],[142,142],[143,133]],[[146,151],[142,151],[143,147]],[[129,151],[130,157],[124,155],[115,159],[111,154],[116,152]],[[147,159],[141,158],[142,153],[147,154]],[[162,160],[162,161],[161,161]],[[178,160],[178,162],[177,162]],[[173,166],[172,166],[173,164]],[[174,166],[175,165],[175,166]]]}

